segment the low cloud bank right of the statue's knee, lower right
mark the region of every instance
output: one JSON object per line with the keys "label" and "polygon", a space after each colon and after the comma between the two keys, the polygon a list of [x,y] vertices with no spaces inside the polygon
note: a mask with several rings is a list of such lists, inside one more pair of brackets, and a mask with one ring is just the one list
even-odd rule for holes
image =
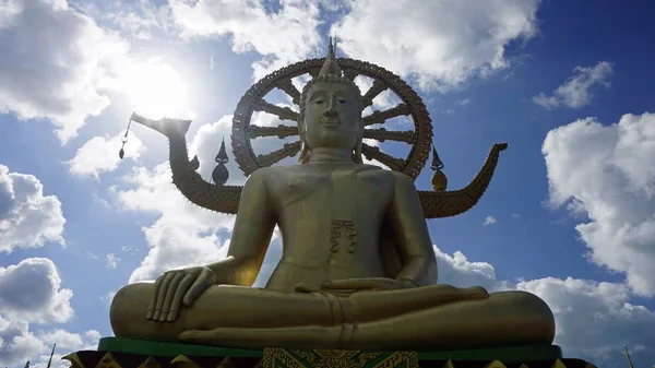
{"label": "low cloud bank right of the statue's knee, lower right", "polygon": [[[490,292],[519,289],[538,295],[556,319],[555,344],[567,357],[586,358],[599,366],[623,363],[623,344],[652,346],[655,341],[655,311],[630,302],[628,286],[590,280],[546,277],[531,281],[502,281],[488,262],[472,262],[462,252],[452,256],[434,247],[439,283],[458,287],[480,285]],[[635,358],[655,358],[642,351]]]}

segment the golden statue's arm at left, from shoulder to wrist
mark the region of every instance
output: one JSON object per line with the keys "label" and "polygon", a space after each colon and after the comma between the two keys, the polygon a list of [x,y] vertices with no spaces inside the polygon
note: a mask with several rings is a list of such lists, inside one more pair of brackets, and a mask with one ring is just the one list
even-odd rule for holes
{"label": "golden statue's arm at left, from shoulder to wrist", "polygon": [[254,284],[275,228],[266,173],[259,169],[246,180],[227,257],[209,265],[216,275],[216,284]]}

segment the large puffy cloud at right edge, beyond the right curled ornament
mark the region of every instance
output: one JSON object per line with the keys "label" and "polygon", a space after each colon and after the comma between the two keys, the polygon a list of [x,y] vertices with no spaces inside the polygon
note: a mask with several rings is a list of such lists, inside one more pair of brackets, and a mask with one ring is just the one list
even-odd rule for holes
{"label": "large puffy cloud at right edge, beyond the right curled ornament", "polygon": [[548,132],[541,151],[550,204],[588,217],[575,228],[591,260],[655,296],[655,115],[581,119]]}

